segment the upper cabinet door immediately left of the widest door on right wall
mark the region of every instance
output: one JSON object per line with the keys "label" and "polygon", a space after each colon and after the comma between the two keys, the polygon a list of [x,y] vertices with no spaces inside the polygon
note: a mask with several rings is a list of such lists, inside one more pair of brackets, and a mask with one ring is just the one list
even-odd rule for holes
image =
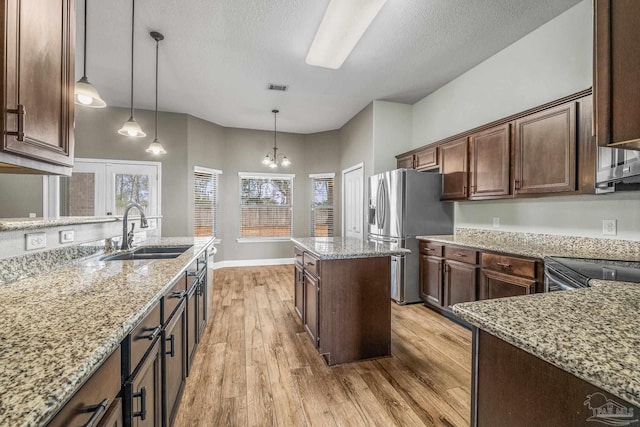
{"label": "upper cabinet door immediately left of the widest door on right wall", "polygon": [[469,197],[506,196],[511,193],[511,125],[509,123],[469,138],[471,162]]}

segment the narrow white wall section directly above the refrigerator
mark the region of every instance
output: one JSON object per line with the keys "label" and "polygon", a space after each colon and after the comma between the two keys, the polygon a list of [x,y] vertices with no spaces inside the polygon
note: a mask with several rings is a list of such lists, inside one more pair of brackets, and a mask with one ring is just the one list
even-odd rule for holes
{"label": "narrow white wall section directly above the refrigerator", "polygon": [[373,173],[396,168],[396,154],[411,149],[411,105],[373,101]]}

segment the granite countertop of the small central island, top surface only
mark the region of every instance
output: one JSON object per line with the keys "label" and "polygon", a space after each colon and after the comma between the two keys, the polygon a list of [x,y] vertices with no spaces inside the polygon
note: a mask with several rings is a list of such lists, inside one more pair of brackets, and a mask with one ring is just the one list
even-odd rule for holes
{"label": "granite countertop of the small central island, top surface only", "polygon": [[372,242],[353,237],[304,237],[291,241],[320,259],[371,258],[410,254],[396,243]]}

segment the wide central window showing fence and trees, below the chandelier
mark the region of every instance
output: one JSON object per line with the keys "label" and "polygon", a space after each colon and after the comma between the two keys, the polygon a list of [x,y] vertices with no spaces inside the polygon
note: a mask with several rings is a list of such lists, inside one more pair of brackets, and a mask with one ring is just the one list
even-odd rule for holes
{"label": "wide central window showing fence and trees, below the chandelier", "polygon": [[289,239],[295,175],[238,173],[240,239]]}

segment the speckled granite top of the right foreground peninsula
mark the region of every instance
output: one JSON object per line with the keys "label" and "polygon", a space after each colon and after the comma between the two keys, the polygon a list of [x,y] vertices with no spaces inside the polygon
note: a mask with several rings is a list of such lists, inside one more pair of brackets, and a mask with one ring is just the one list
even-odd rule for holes
{"label": "speckled granite top of the right foreground peninsula", "polygon": [[469,323],[640,405],[640,284],[456,304]]}

